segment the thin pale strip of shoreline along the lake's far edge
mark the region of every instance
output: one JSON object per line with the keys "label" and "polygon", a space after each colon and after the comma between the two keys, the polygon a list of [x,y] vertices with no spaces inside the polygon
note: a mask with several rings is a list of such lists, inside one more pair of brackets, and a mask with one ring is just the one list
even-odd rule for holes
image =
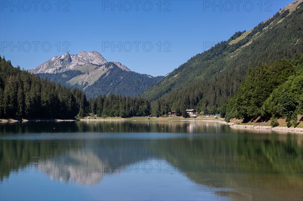
{"label": "thin pale strip of shoreline along the lake's far edge", "polygon": [[286,127],[286,126],[267,126],[260,124],[241,124],[239,122],[226,122],[223,118],[183,118],[183,117],[85,117],[76,119],[0,119],[0,123],[26,123],[26,122],[72,122],[72,121],[154,121],[154,122],[184,122],[184,121],[202,121],[202,122],[220,122],[226,124],[233,129],[243,130],[260,130],[260,131],[277,131],[277,132],[294,132],[303,134],[302,127]]}

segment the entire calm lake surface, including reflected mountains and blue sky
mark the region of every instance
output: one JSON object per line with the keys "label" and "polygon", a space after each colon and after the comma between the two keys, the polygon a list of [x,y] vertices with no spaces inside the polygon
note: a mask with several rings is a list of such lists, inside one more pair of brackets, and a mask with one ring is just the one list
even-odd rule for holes
{"label": "entire calm lake surface, including reflected mountains and blue sky", "polygon": [[139,121],[0,133],[0,200],[303,199],[303,135]]}

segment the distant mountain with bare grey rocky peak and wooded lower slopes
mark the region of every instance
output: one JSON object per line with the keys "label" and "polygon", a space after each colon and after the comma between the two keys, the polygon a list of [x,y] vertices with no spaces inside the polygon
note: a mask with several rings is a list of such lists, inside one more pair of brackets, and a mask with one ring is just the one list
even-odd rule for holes
{"label": "distant mountain with bare grey rocky peak and wooded lower slopes", "polygon": [[120,62],[109,62],[96,51],[55,56],[29,72],[65,86],[84,90],[87,98],[103,94],[137,96],[164,77],[130,71]]}

